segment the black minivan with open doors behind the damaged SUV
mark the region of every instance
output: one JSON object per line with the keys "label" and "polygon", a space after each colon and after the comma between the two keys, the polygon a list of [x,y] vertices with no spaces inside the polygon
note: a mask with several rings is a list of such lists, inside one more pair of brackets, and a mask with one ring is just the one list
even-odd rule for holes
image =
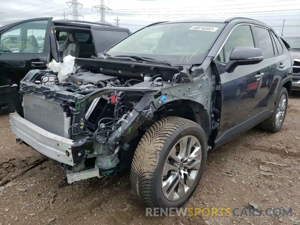
{"label": "black minivan with open doors behind the damaged SUV", "polygon": [[129,29],[110,24],[64,19],[52,21],[52,18],[28,19],[1,26],[0,86],[6,91],[1,91],[0,87],[0,102],[9,104],[11,97],[7,92],[10,88],[6,85],[19,85],[29,70],[46,69],[46,64],[52,59],[58,61],[65,55],[80,58],[101,55],[130,34]]}

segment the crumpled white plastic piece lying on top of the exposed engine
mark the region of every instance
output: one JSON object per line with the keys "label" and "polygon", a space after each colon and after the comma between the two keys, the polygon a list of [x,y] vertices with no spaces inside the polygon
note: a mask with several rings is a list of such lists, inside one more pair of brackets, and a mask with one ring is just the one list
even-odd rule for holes
{"label": "crumpled white plastic piece lying on top of the exposed engine", "polygon": [[52,59],[52,61],[47,64],[47,67],[51,70],[53,70],[53,72],[58,72],[58,81],[64,81],[68,75],[72,72],[73,67],[74,67],[74,61],[75,61],[75,57],[71,56],[71,55],[66,55],[63,58],[63,63],[61,62],[56,62],[55,60]]}

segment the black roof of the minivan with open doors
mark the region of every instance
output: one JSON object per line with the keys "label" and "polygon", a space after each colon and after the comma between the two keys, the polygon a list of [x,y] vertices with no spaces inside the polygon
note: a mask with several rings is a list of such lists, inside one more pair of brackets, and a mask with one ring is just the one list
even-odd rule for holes
{"label": "black roof of the minivan with open doors", "polygon": [[129,31],[128,28],[118,27],[118,26],[111,25],[111,24],[99,23],[99,22],[90,22],[90,21],[82,21],[82,20],[57,19],[57,20],[52,20],[52,22],[55,25],[85,27],[85,28],[92,28],[92,29],[105,28],[105,29]]}

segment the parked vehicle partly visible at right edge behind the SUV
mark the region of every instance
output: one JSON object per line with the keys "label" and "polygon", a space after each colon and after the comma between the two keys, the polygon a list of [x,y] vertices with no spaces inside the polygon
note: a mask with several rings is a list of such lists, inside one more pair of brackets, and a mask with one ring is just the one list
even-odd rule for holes
{"label": "parked vehicle partly visible at right edge behind the SUV", "polygon": [[289,44],[289,53],[294,58],[292,90],[300,91],[300,35],[282,38]]}

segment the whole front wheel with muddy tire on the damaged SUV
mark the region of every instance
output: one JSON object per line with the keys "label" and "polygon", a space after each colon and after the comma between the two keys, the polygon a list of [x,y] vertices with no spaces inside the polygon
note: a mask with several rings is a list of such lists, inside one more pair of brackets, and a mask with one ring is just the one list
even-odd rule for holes
{"label": "whole front wheel with muddy tire on the damaged SUV", "polygon": [[132,190],[147,207],[180,207],[199,184],[206,158],[206,136],[197,123],[173,116],[161,119],[137,146],[131,164]]}

